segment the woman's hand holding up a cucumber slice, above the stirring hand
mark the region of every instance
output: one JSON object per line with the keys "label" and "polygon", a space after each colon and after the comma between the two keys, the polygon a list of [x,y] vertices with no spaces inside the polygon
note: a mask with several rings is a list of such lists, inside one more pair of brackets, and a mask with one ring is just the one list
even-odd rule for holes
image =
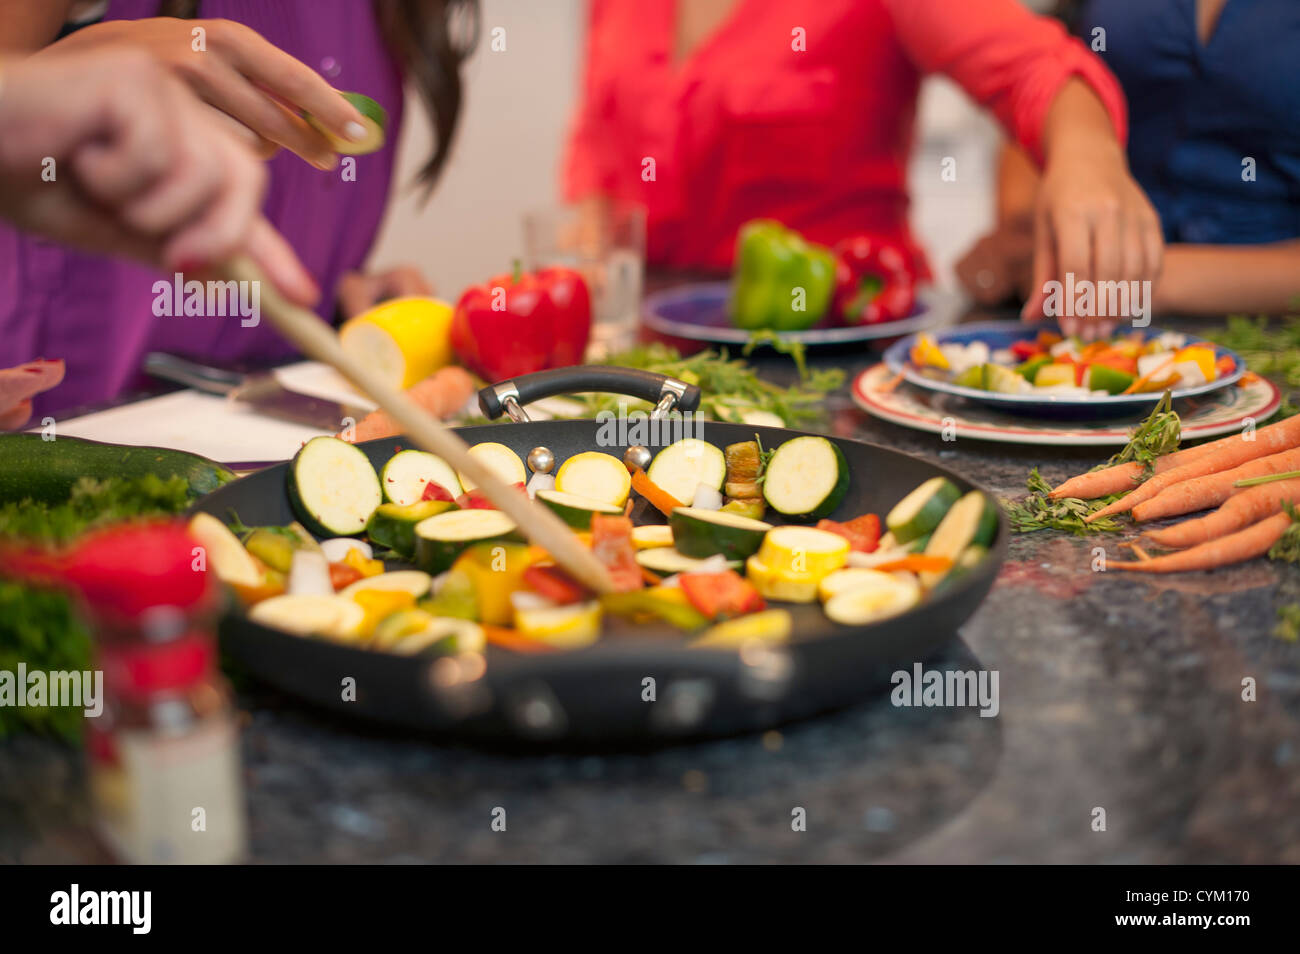
{"label": "woman's hand holding up a cucumber slice, above the stirring hand", "polygon": [[[196,36],[196,30],[203,32]],[[113,19],[83,27],[46,52],[98,49],[148,52],[224,120],[233,120],[263,157],[285,147],[318,169],[335,166],[329,142],[300,112],[341,139],[365,136],[361,114],[318,73],[231,19]]]}

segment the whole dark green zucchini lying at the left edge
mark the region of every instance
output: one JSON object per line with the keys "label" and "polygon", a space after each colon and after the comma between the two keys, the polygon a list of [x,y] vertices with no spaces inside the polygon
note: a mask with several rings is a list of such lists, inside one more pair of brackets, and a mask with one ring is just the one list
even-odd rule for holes
{"label": "whole dark green zucchini lying at the left edge", "polygon": [[182,477],[190,494],[211,494],[235,478],[233,471],[207,458],[165,447],[129,447],[40,434],[0,434],[0,502],[31,498],[62,503],[82,477]]}

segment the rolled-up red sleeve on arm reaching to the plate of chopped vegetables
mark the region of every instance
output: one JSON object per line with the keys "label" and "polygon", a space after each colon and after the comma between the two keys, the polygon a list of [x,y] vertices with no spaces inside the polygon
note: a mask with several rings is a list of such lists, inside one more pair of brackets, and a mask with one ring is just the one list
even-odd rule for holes
{"label": "rolled-up red sleeve on arm reaching to the plate of chopped vegetables", "polygon": [[918,68],[952,77],[1043,162],[1043,125],[1057,92],[1079,77],[1097,94],[1121,144],[1123,91],[1086,45],[1017,0],[884,0],[898,42]]}

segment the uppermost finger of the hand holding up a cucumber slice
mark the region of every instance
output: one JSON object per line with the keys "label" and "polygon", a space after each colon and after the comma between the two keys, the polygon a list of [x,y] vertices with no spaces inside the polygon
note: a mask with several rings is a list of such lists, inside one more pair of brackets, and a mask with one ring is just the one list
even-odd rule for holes
{"label": "uppermost finger of the hand holding up a cucumber slice", "polygon": [[295,109],[311,113],[334,135],[348,142],[365,138],[361,114],[351,103],[339,96],[316,70],[268,43],[254,30],[231,23],[218,32],[217,43],[234,69]]}

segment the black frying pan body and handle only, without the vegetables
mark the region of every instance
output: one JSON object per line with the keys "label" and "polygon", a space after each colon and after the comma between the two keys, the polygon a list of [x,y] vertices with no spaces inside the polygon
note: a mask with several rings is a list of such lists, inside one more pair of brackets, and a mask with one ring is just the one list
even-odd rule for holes
{"label": "black frying pan body and handle only, without the vegetables", "polygon": [[[612,368],[564,368],[486,387],[480,403],[489,417],[541,398],[577,391],[614,391],[649,402],[698,406],[699,391],[660,374]],[[595,420],[530,421],[459,428],[471,445],[499,441],[521,458],[537,446],[568,456],[599,448],[608,425]],[[718,446],[753,439],[776,447],[805,432],[703,422],[699,437]],[[944,476],[958,487],[974,485],[944,468],[887,447],[829,437],[849,463],[848,495],[833,515],[850,519],[885,513],[922,481]],[[376,467],[400,438],[359,445]],[[234,481],[195,506],[222,520],[234,511],[248,525],[295,519],[278,464]],[[637,499],[636,522],[663,522]],[[520,655],[494,646],[486,665],[450,659],[399,656],[281,633],[239,612],[221,624],[222,646],[257,677],[338,712],[399,724],[441,736],[608,743],[729,734],[763,729],[849,703],[889,685],[950,639],[988,593],[1006,552],[1000,516],[989,555],[971,573],[914,610],[867,626],[842,626],[818,604],[785,604],[794,617],[788,646],[762,651],[692,650],[677,630],[606,617],[602,638],[582,650]],[[344,680],[355,680],[355,701],[344,701]],[[653,682],[647,681],[653,680]],[[350,684],[351,685],[351,684]],[[653,688],[654,701],[647,701]]]}

